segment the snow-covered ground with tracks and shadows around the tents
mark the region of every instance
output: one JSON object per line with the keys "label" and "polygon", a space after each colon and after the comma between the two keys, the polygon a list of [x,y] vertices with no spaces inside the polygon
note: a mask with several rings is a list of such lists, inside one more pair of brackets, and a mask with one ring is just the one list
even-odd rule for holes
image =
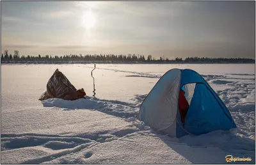
{"label": "snow-covered ground with tracks and shadows around the tents", "polygon": [[[255,65],[1,65],[2,164],[255,164]],[[86,100],[38,98],[58,68]],[[140,104],[171,68],[201,74],[238,129],[170,138],[136,120]],[[241,162],[240,162],[241,163]]]}

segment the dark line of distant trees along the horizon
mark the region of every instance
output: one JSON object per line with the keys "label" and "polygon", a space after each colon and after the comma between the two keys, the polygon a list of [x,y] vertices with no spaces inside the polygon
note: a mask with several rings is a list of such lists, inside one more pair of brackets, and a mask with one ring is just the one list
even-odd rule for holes
{"label": "dark line of distant trees along the horizon", "polygon": [[4,51],[1,56],[1,61],[142,61],[142,62],[177,62],[177,63],[255,63],[255,59],[252,58],[175,58],[168,59],[160,57],[155,59],[151,55],[145,58],[144,55],[140,54],[127,54],[127,55],[114,55],[114,54],[86,54],[86,55],[76,55],[69,54],[64,56],[20,56],[19,51],[14,51],[14,54],[8,54],[8,50]]}

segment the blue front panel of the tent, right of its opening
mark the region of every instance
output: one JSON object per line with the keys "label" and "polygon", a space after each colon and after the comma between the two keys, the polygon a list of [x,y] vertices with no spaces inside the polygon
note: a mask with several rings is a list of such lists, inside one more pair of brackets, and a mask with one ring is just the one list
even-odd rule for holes
{"label": "blue front panel of the tent, right of its opening", "polygon": [[184,129],[191,134],[199,135],[213,130],[229,130],[233,122],[232,118],[224,113],[207,86],[203,83],[196,84]]}

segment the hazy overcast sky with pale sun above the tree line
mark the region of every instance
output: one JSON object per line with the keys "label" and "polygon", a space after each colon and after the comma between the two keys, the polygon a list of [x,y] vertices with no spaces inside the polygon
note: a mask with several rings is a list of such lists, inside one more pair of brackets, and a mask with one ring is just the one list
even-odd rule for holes
{"label": "hazy overcast sky with pale sun above the tree line", "polygon": [[255,58],[255,1],[1,1],[1,51]]}

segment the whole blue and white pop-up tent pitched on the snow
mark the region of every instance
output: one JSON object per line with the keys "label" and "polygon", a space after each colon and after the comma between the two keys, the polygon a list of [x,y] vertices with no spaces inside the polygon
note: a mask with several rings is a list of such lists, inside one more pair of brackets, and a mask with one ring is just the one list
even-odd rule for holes
{"label": "whole blue and white pop-up tent pitched on the snow", "polygon": [[[184,127],[178,106],[181,89],[189,102]],[[201,75],[189,69],[166,72],[141,104],[138,118],[152,129],[177,138],[236,128],[220,97]]]}

